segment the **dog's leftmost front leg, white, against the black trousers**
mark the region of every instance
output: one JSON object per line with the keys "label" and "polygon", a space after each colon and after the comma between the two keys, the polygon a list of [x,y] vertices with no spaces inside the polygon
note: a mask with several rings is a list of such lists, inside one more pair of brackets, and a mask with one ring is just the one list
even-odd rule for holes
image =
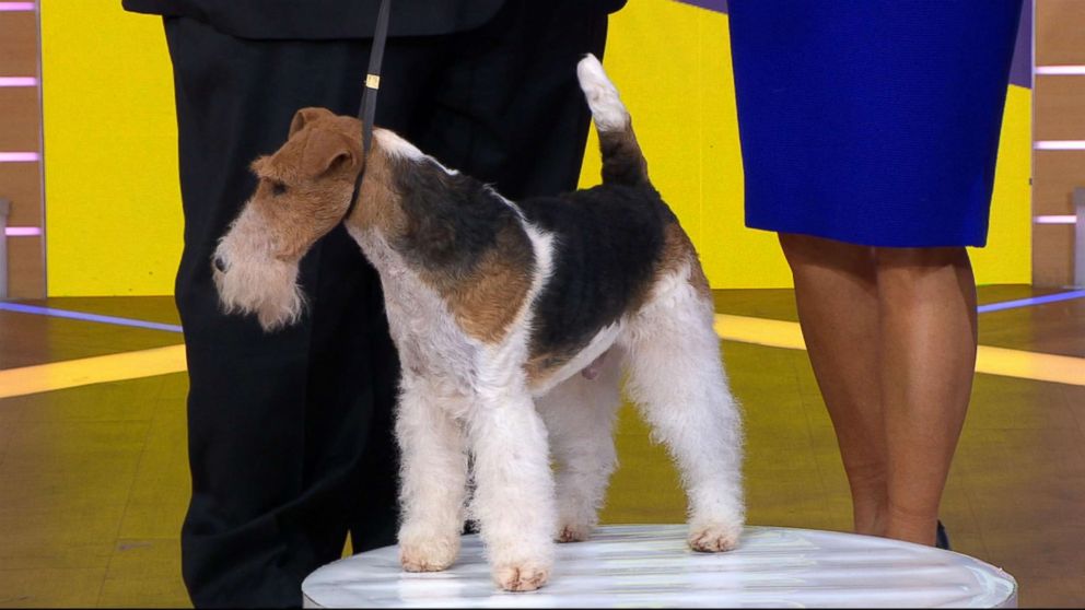
{"label": "dog's leftmost front leg, white, against the black trousers", "polygon": [[458,397],[405,376],[396,439],[401,454],[399,560],[408,572],[435,572],[459,552],[467,494],[467,451],[450,414]]}

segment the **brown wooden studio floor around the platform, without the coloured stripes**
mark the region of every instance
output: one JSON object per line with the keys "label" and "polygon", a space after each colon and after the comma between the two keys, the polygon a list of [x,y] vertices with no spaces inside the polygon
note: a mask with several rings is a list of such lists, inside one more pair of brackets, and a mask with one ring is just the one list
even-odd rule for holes
{"label": "brown wooden studio floor around the platform, without the coloured stripes", "polygon": [[[980,294],[995,303],[1034,291]],[[34,304],[177,324],[170,298]],[[716,304],[795,319],[791,291],[724,291]],[[0,310],[0,369],[179,342]],[[980,342],[1083,359],[1085,298],[983,314]],[[725,341],[724,359],[746,413],[749,523],[847,530],[848,488],[806,353]],[[0,607],[187,606],[186,389],[175,373],[0,399]],[[680,521],[675,471],[628,408],[618,444],[604,521]],[[1022,607],[1085,606],[1085,386],[978,375],[942,519],[955,550],[1016,576]]]}

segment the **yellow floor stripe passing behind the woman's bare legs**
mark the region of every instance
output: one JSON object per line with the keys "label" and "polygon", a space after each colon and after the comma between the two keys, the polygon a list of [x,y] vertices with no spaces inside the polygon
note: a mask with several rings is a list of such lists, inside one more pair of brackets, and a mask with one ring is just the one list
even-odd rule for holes
{"label": "yellow floor stripe passing behind the woman's bare legs", "polygon": [[[805,350],[798,322],[716,314],[715,332],[722,339],[770,348]],[[1036,382],[1085,386],[1085,359],[980,345],[976,372]]]}

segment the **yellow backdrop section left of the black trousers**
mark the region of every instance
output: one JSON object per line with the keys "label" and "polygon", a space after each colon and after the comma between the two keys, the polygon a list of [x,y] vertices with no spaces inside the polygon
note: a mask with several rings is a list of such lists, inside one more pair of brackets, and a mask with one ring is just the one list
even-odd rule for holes
{"label": "yellow backdrop section left of the black trousers", "polygon": [[43,0],[50,296],[171,294],[182,246],[162,20]]}

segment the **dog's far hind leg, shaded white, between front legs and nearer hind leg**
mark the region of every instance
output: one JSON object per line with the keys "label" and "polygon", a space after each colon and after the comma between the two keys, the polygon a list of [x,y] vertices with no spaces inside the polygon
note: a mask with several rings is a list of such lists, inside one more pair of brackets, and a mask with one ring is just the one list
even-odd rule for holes
{"label": "dog's far hind leg, shaded white, between front legs and nearer hind leg", "polygon": [[594,379],[573,375],[536,400],[558,464],[559,542],[591,535],[618,461],[614,421],[621,404],[619,352],[615,348],[607,354]]}

